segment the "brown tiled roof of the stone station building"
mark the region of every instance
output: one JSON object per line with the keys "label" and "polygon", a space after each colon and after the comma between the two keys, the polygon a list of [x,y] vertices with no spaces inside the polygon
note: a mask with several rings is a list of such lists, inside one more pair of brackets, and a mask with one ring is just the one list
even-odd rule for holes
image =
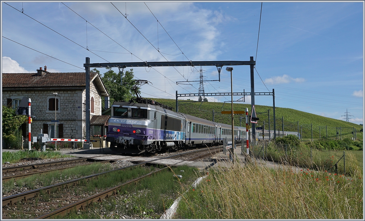
{"label": "brown tiled roof of the stone station building", "polygon": [[[90,72],[90,80],[96,75]],[[3,73],[3,88],[77,87],[86,86],[86,73]]]}

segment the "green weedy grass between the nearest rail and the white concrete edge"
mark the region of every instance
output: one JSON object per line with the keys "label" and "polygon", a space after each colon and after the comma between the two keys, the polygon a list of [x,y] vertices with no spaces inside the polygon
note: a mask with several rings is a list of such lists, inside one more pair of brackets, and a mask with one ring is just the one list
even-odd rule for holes
{"label": "green weedy grass between the nearest rail and the white concrete edge", "polygon": [[[197,169],[195,168],[179,166],[172,169],[174,172],[166,169],[143,178],[136,185],[123,186],[118,190],[119,197],[110,197],[101,204],[94,203],[87,210],[80,211],[79,214],[77,213],[78,211],[72,211],[66,216],[55,218],[96,219],[101,218],[100,214],[103,213],[100,211],[104,211],[107,214],[103,218],[120,219],[123,215],[135,216],[136,214],[144,218],[160,218],[165,209],[169,208],[172,202],[185,192],[188,186],[197,178]],[[184,172],[180,172],[180,170],[184,170]],[[128,173],[135,172],[130,170]],[[173,177],[174,173],[182,174],[183,178],[178,180],[176,177]],[[134,174],[134,176],[136,175]],[[115,176],[118,177],[116,180],[119,180],[122,174],[115,174]],[[130,175],[125,174],[124,176]],[[131,179],[132,177],[128,178]],[[120,179],[120,182],[124,181],[125,178]],[[117,183],[112,181],[110,185],[116,185]],[[100,182],[98,185],[92,185],[92,187],[103,186],[106,188],[110,185],[105,186],[103,182]]]}

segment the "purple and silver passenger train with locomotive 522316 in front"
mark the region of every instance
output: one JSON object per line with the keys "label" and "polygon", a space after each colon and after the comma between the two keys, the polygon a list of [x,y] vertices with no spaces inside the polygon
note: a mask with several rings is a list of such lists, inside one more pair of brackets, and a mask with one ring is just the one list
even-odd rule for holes
{"label": "purple and silver passenger train with locomotive 522316 in front", "polygon": [[[277,137],[300,136],[298,132],[276,132]],[[223,138],[232,137],[231,133],[231,125],[174,112],[172,108],[149,99],[137,99],[111,105],[106,141],[111,142],[112,149],[118,148],[123,153],[149,154],[162,149],[220,145]],[[261,140],[262,130],[256,133]],[[273,130],[264,130],[263,138],[274,137],[273,133]],[[246,140],[246,128],[234,126],[234,138],[235,142]]]}

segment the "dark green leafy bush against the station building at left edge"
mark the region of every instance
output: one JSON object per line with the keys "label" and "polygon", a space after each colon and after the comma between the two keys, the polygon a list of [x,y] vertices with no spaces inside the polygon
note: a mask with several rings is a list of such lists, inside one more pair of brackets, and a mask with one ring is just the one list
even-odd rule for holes
{"label": "dark green leafy bush against the station building at left edge", "polygon": [[16,115],[11,107],[3,106],[3,139],[5,146],[9,147],[16,141],[16,132],[20,125],[27,120],[26,115]]}

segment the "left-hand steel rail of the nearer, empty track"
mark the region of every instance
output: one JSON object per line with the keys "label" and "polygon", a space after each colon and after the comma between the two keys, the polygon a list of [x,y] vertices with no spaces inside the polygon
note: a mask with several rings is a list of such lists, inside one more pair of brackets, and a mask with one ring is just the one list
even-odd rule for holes
{"label": "left-hand steel rail of the nearer, empty track", "polygon": [[[219,148],[219,147],[211,148],[211,149],[217,149],[217,148]],[[130,165],[130,166],[125,166],[125,167],[122,167],[122,168],[117,168],[117,169],[114,169],[114,170],[109,170],[109,171],[106,171],[106,172],[97,173],[97,174],[89,175],[89,176],[86,176],[86,177],[80,177],[80,178],[77,178],[77,179],[74,179],[74,180],[69,180],[69,181],[65,181],[65,182],[50,185],[50,186],[45,186],[45,187],[42,187],[42,188],[26,191],[26,192],[23,192],[23,193],[18,193],[18,194],[11,195],[11,196],[6,196],[6,197],[2,198],[2,204],[3,205],[7,205],[7,204],[12,205],[15,202],[26,201],[30,198],[37,197],[38,193],[40,191],[47,192],[47,190],[51,190],[51,189],[57,188],[59,186],[66,186],[66,188],[68,188],[68,186],[71,186],[73,184],[77,184],[81,180],[88,181],[88,180],[91,180],[92,178],[96,178],[97,176],[101,176],[101,175],[106,174],[106,173],[110,173],[110,172],[114,172],[114,171],[118,171],[118,170],[123,170],[123,169],[127,169],[127,168],[134,167],[134,166],[143,165],[143,164],[153,162],[153,161],[157,161],[157,160],[163,160],[163,159],[173,158],[173,157],[177,157],[177,156],[183,156],[183,155],[187,155],[187,154],[191,154],[191,153],[201,152],[201,151],[204,151],[204,150],[207,150],[207,149],[210,149],[210,148],[195,150],[195,151],[188,152],[188,153],[180,153],[180,154],[176,154],[176,155],[173,155],[173,156],[158,158],[158,159],[154,159],[154,160],[149,160],[149,161],[141,162],[141,163]]]}

